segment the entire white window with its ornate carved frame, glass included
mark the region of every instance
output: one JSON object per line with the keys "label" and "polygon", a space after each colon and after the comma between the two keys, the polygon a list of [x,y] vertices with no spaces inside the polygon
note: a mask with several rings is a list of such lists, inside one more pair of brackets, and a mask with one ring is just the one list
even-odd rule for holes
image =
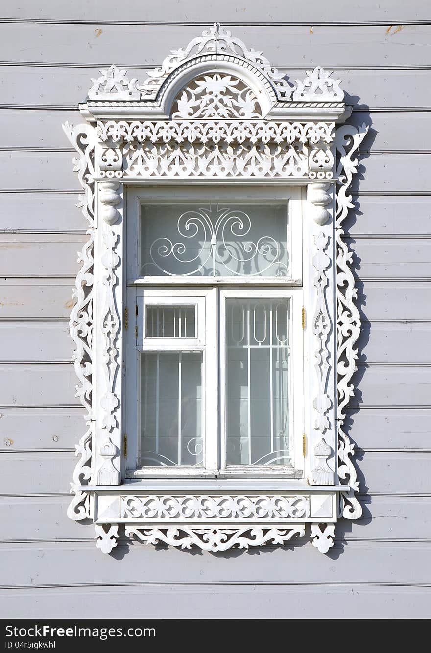
{"label": "entire white window with its ornate carved frame, glass included", "polygon": [[111,66],[65,133],[88,242],[71,313],[87,430],[69,517],[205,550],[322,552],[360,503],[343,430],[343,220],[367,127],[320,67],[293,86],[215,24],[146,82]]}

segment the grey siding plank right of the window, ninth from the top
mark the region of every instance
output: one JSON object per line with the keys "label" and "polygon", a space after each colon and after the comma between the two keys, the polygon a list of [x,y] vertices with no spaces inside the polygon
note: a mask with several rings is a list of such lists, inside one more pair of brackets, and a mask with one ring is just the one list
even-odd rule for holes
{"label": "grey siding plank right of the window, ninth from the top", "polygon": [[366,323],[357,347],[360,362],[431,364],[431,325]]}

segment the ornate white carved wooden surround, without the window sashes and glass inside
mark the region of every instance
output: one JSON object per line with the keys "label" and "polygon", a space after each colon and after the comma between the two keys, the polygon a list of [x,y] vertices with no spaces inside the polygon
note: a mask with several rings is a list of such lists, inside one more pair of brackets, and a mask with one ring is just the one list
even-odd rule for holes
{"label": "ornate white carved wooden surround, without the window sashes and glass inside", "polygon": [[[103,552],[116,547],[120,533],[147,544],[223,551],[285,545],[308,528],[313,545],[327,552],[337,519],[362,514],[344,428],[360,315],[343,221],[353,208],[355,153],[368,127],[345,124],[351,107],[339,84],[319,66],[292,84],[215,23],[173,50],[144,82],[115,65],[101,70],[80,104],[86,122],[63,125],[77,150],[78,206],[88,221],[70,318],[87,428],[77,445],[68,515],[94,522]],[[180,180],[307,190],[303,328],[313,354],[302,478],[126,477],[125,197],[132,185]]]}

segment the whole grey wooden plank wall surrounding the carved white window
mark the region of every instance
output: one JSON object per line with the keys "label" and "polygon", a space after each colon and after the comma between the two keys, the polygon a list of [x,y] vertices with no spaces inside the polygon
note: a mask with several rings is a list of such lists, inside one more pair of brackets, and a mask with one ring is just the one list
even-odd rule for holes
{"label": "whole grey wooden plank wall surrounding the carved white window", "polygon": [[[0,11],[0,554],[3,616],[428,616],[431,554],[431,10],[207,0],[3,3]],[[99,67],[142,78],[213,20],[295,80],[336,71],[371,121],[349,217],[362,312],[349,406],[364,515],[328,556],[195,554],[121,542],[104,556],[65,511],[82,434],[72,306],[86,224],[61,123]]]}

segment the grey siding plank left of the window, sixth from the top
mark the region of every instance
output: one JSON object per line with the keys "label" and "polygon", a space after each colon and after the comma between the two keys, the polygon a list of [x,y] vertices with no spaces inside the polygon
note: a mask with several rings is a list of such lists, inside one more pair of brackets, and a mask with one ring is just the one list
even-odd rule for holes
{"label": "grey siding plank left of the window, sixth from the top", "polygon": [[2,193],[0,231],[84,231],[78,193]]}

